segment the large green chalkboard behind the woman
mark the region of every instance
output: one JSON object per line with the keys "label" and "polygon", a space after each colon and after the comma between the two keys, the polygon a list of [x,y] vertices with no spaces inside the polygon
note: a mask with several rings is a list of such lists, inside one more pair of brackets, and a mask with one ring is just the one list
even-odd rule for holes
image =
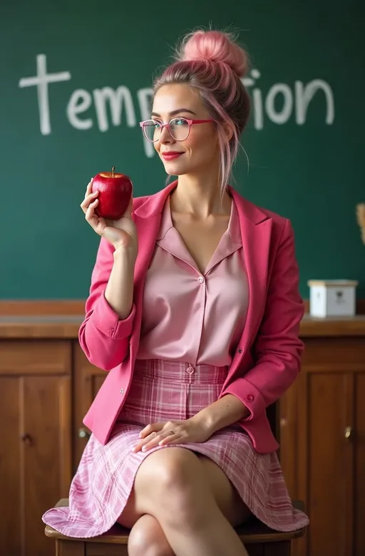
{"label": "large green chalkboard behind the woman", "polygon": [[0,297],[86,297],[86,184],[115,165],[136,196],[164,186],[138,122],[177,38],[209,25],[252,58],[237,189],[291,218],[304,297],[310,278],[359,279],[365,297],[364,15],[354,0],[3,0]]}

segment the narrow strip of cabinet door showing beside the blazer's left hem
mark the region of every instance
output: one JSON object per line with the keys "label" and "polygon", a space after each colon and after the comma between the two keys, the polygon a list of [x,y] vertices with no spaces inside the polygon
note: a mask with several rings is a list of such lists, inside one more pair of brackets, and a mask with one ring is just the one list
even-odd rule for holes
{"label": "narrow strip of cabinet door showing beside the blazer's left hem", "polygon": [[83,425],[83,417],[91,406],[91,402],[98,393],[106,371],[89,363],[78,341],[73,342],[74,361],[74,407],[75,421],[73,424],[73,473],[76,472],[81,455],[86,446],[90,431]]}

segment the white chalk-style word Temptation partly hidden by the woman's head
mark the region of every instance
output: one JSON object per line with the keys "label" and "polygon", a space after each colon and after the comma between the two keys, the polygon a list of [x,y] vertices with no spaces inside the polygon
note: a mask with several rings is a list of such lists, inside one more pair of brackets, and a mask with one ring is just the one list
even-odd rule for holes
{"label": "white chalk-style word Temptation partly hidden by the woman's head", "polygon": [[[265,120],[282,125],[287,123],[292,115],[297,125],[304,125],[309,105],[312,98],[317,94],[324,97],[324,122],[327,125],[334,122],[334,96],[326,81],[314,79],[306,84],[302,81],[295,81],[292,88],[286,83],[275,83],[264,96],[261,89],[257,87],[257,81],[260,77],[259,71],[252,69],[250,76],[242,79],[242,83],[251,95],[255,129],[262,130]],[[48,73],[45,54],[39,54],[36,57],[36,76],[20,79],[19,87],[36,87],[39,125],[42,135],[49,135],[52,130],[48,86],[70,80],[71,73],[69,71]],[[120,125],[123,115],[123,120],[125,120],[128,128],[134,128],[138,125],[139,120],[150,118],[151,97],[152,89],[142,88],[138,89],[136,99],[133,100],[130,89],[124,85],[120,85],[116,89],[106,86],[93,89],[93,91],[76,89],[68,100],[66,118],[68,123],[78,130],[86,131],[91,129],[93,125],[98,125],[101,132],[106,132],[110,124]],[[138,118],[136,106],[138,106]],[[94,119],[86,115],[86,111],[91,107],[94,108]],[[108,113],[110,113],[110,122]],[[143,143],[146,156],[152,157],[154,154],[153,145],[145,140],[143,140]]]}

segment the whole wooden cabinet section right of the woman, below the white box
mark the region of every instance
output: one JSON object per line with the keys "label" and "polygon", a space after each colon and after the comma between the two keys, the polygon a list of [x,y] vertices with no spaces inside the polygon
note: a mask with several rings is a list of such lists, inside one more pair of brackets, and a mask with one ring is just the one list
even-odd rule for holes
{"label": "whole wooden cabinet section right of the woman, below the white box", "polygon": [[280,402],[280,459],[311,520],[294,556],[365,555],[365,338],[307,336]]}

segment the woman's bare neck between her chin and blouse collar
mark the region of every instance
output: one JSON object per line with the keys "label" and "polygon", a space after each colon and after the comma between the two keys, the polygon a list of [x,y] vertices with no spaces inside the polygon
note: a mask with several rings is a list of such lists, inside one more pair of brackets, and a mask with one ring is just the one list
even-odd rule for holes
{"label": "woman's bare neck between her chin and blouse collar", "polygon": [[231,197],[227,190],[222,195],[217,176],[181,175],[178,186],[171,196],[171,208],[175,212],[187,212],[205,219],[214,215],[230,215]]}

